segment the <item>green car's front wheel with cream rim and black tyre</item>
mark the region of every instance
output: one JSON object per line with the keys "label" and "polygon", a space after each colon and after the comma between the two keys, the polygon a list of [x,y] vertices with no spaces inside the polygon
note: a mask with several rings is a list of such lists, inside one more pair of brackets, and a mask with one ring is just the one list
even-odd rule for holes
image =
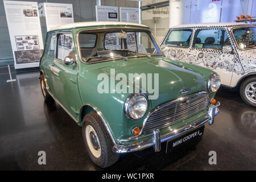
{"label": "green car's front wheel with cream rim and black tyre", "polygon": [[95,111],[85,115],[82,121],[82,138],[90,159],[97,166],[106,168],[119,159],[119,155],[113,152],[114,143]]}

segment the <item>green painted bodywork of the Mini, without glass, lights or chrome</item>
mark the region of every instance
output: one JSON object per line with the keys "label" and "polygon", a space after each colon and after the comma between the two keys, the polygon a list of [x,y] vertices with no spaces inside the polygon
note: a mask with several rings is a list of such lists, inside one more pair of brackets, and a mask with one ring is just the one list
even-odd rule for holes
{"label": "green painted bodywork of the Mini, without glass, lights or chrome", "polygon": [[[114,142],[119,139],[133,137],[131,131],[135,126],[142,128],[143,121],[154,107],[164,104],[165,102],[175,100],[176,98],[186,96],[188,94],[205,91],[207,89],[207,81],[214,72],[210,69],[199,67],[180,61],[173,61],[163,56],[133,57],[126,60],[118,59],[105,61],[101,63],[85,64],[80,60],[79,50],[77,47],[76,36],[80,30],[104,27],[122,27],[122,26],[91,26],[79,27],[71,29],[62,29],[57,32],[72,32],[73,41],[76,52],[76,65],[65,65],[61,61],[54,60],[45,53],[40,60],[40,71],[46,77],[49,92],[55,97],[55,100],[64,107],[64,109],[72,116],[78,125],[82,125],[84,115],[96,109],[101,113],[105,120],[105,125],[109,127]],[[140,26],[130,26],[134,28],[145,28]],[[47,35],[48,35],[47,34]],[[47,39],[47,38],[46,38]],[[54,63],[59,72],[53,73],[49,65]],[[97,80],[100,73],[110,73],[110,69],[115,69],[115,75],[125,73],[128,78],[129,73],[158,73],[159,74],[159,97],[156,100],[148,100],[147,113],[140,119],[131,120],[126,117],[124,111],[124,103],[130,93],[98,93],[97,86],[101,80]],[[129,81],[129,80],[127,80]],[[119,81],[116,81],[116,83]],[[154,85],[154,83],[153,83]],[[191,88],[185,94],[181,94],[180,90]],[[209,93],[209,98],[213,98],[215,93]],[[172,125],[173,129],[195,121],[207,114],[207,110],[201,111],[192,117],[185,119]],[[161,129],[161,130],[164,130]],[[142,134],[143,135],[143,134]]]}

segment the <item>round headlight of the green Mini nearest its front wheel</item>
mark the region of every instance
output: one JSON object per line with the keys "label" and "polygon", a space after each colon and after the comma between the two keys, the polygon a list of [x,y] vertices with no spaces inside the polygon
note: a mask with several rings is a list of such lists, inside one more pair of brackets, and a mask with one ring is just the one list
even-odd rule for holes
{"label": "round headlight of the green Mini nearest its front wheel", "polygon": [[125,101],[125,114],[131,119],[142,118],[147,111],[147,97],[142,93],[135,93]]}

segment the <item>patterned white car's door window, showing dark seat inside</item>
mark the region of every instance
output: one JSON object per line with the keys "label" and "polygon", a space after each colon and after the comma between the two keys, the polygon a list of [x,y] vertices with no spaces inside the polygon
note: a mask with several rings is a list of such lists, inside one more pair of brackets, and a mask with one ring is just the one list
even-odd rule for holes
{"label": "patterned white car's door window, showing dark seat inside", "polygon": [[231,46],[225,30],[197,30],[193,47],[221,50],[223,46]]}

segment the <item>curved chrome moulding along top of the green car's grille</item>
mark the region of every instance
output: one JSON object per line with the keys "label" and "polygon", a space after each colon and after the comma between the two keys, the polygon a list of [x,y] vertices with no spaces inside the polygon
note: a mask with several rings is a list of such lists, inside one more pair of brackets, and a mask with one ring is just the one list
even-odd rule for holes
{"label": "curved chrome moulding along top of the green car's grille", "polygon": [[[143,133],[143,129],[144,129],[144,126],[148,120],[148,118],[150,118],[151,114],[154,113],[155,111],[161,109],[162,107],[165,107],[167,105],[171,105],[171,104],[175,104],[176,102],[178,101],[185,101],[185,100],[188,100],[188,98],[190,97],[195,97],[195,96],[198,96],[200,94],[208,94],[207,92],[205,91],[201,91],[201,92],[197,92],[197,93],[192,93],[192,94],[189,94],[187,96],[183,96],[183,97],[179,97],[179,98],[176,98],[175,100],[172,100],[172,101],[169,101],[169,102],[166,102],[164,104],[161,104],[159,106],[156,106],[154,109],[152,109],[148,114],[147,114],[147,117],[144,119],[143,121],[143,125],[142,125],[142,129],[141,129],[141,133],[139,133],[139,135],[141,135]],[[138,136],[139,136],[138,135]],[[135,137],[131,137],[131,138],[135,138]]]}

